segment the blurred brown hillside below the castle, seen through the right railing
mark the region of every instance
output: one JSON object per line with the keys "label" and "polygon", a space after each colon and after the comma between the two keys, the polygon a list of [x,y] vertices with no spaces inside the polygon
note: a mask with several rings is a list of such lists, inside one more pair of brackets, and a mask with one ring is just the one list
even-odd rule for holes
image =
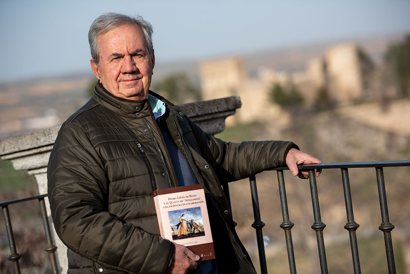
{"label": "blurred brown hillside below the castle, seen through the right railing", "polygon": [[[227,128],[218,137],[234,142],[240,141],[241,135],[246,136],[246,139],[292,140],[303,151],[318,157],[322,162],[409,160],[410,135],[401,130],[392,130],[400,125],[401,128],[408,127],[408,122],[403,121],[410,121],[406,118],[410,112],[398,112],[409,110],[408,107],[410,100],[397,101],[390,105],[390,112],[383,114],[377,103],[356,105],[294,117],[293,126],[284,130],[272,130],[275,128],[275,120],[272,119],[266,125],[246,125],[242,127],[242,132],[238,126]],[[370,118],[368,121],[383,121],[387,117],[392,120],[386,123],[387,126],[383,126],[383,122],[373,125],[363,120],[364,116]],[[407,271],[410,269],[410,212],[402,210],[410,205],[409,172],[410,167],[384,169],[389,217],[395,225],[392,237],[397,273],[408,273],[405,267]],[[375,170],[349,169],[349,177],[355,221],[360,224],[357,235],[362,273],[386,273],[383,233],[378,230],[381,218]],[[265,171],[258,174],[256,180],[261,219],[266,223],[263,231],[267,237],[265,248],[268,272],[287,273],[289,266],[285,237],[279,227],[282,212],[276,172]],[[285,184],[289,217],[295,224],[292,238],[296,269],[307,274],[319,273],[316,235],[310,228],[313,213],[309,183],[285,171]],[[317,178],[317,186],[321,219],[326,224],[323,235],[329,273],[352,272],[348,232],[343,228],[347,219],[340,170],[323,170]],[[246,248],[252,251],[253,262],[258,265],[255,231],[251,228],[253,211],[249,181],[230,183],[230,193],[234,220],[238,223],[237,231],[246,242]]]}

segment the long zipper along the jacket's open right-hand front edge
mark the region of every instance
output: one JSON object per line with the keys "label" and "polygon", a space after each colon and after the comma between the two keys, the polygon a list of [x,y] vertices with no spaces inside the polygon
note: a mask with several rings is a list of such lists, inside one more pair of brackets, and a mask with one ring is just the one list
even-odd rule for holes
{"label": "long zipper along the jacket's open right-hand front edge", "polygon": [[[207,185],[204,184],[204,180],[203,180],[202,176],[200,176],[200,174],[199,174],[198,167],[196,166],[196,164],[194,164],[194,160],[193,160],[194,156],[192,155],[191,149],[189,148],[189,146],[187,146],[184,139],[182,138],[182,129],[179,125],[178,118],[177,118],[176,115],[174,116],[174,123],[175,123],[175,126],[177,126],[177,128],[178,128],[178,135],[179,135],[179,137],[181,139],[181,142],[182,142],[182,148],[184,149],[185,154],[187,155],[188,162],[189,162],[189,165],[191,166],[191,169],[194,171],[195,176],[198,179],[198,181],[200,181],[202,183],[202,185],[204,187],[204,191],[207,192],[207,194],[210,194],[210,191],[208,190]],[[254,274],[257,274],[255,269],[252,267],[251,262],[249,262],[248,258],[243,256],[243,254],[245,254],[245,253],[242,251],[241,247],[239,246],[238,242],[236,241],[235,235],[233,235],[232,231],[230,230],[228,223],[225,221],[224,217],[221,215],[221,212],[219,211],[218,206],[215,205],[215,203],[212,199],[210,199],[210,201],[211,201],[212,205],[214,206],[214,208],[216,209],[216,211],[218,212],[218,215],[219,215],[220,219],[222,219],[223,222],[225,223],[225,227],[228,230],[231,241],[234,242],[234,244],[237,247],[237,250],[239,250],[240,255],[242,255],[242,256],[240,256],[238,254],[239,257],[241,258],[241,260],[244,260],[247,263],[247,265],[246,264],[245,265],[248,268],[248,271],[250,271]],[[248,266],[250,266],[250,267],[248,267]]]}

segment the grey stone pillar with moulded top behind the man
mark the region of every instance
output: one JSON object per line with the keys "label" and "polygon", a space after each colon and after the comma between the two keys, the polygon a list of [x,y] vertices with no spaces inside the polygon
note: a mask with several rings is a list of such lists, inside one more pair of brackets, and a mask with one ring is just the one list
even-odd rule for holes
{"label": "grey stone pillar with moulded top behind the man", "polygon": [[[225,118],[235,114],[241,107],[239,96],[231,96],[209,101],[187,103],[178,105],[185,115],[196,123],[205,132],[215,134],[225,129]],[[47,165],[48,158],[57,137],[60,126],[32,132],[26,135],[10,137],[0,140],[0,157],[2,160],[11,160],[16,170],[27,170],[29,175],[34,175],[39,187],[39,194],[47,193]],[[24,198],[24,197],[21,197]],[[67,248],[58,238],[50,216],[48,198],[46,210],[53,242],[57,247],[56,257],[59,273],[67,273]],[[14,224],[16,226],[16,224]]]}

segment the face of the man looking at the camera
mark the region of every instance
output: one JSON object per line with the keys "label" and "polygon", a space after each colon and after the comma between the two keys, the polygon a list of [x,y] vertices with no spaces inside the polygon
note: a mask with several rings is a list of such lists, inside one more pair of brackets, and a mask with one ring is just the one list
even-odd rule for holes
{"label": "face of the man looking at the camera", "polygon": [[122,25],[98,37],[100,66],[91,59],[91,69],[114,96],[129,100],[148,97],[155,64],[138,26]]}

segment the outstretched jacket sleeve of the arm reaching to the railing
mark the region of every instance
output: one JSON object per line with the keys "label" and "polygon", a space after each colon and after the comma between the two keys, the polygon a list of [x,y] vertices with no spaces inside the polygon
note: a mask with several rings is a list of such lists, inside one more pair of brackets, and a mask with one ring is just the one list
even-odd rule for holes
{"label": "outstretched jacket sleeve of the arm reaching to the railing", "polygon": [[299,149],[287,141],[224,142],[203,132],[189,118],[203,157],[212,165],[221,183],[231,182],[286,165],[291,148]]}

